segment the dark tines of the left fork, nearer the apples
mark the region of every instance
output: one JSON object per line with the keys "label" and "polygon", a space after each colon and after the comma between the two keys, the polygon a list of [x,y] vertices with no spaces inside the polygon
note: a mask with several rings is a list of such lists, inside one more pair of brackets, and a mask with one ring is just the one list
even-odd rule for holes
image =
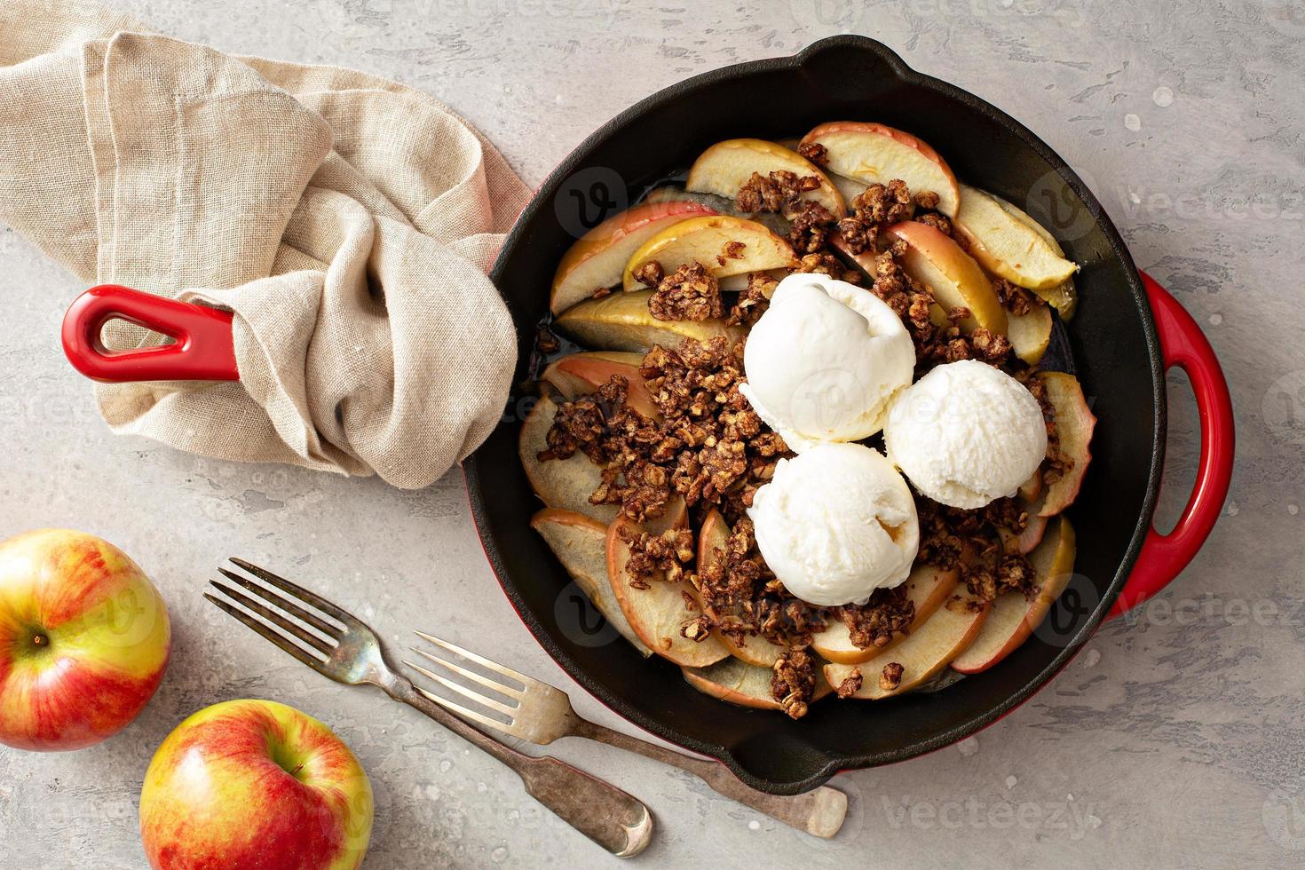
{"label": "dark tines of the left fork, nearer the apples", "polygon": [[236,557],[230,561],[261,582],[219,567],[227,582],[209,580],[209,586],[224,597],[210,592],[204,597],[312,668],[330,657],[347,629],[343,610],[266,569]]}

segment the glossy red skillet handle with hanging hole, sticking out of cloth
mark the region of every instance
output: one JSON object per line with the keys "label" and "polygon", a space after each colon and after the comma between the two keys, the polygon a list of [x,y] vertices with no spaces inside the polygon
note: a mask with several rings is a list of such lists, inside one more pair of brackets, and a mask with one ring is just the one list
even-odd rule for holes
{"label": "glossy red skillet handle with hanging hole, sticking out of cloth", "polygon": [[[99,334],[111,320],[163,333],[175,344],[110,351]],[[179,303],[129,287],[91,287],[64,314],[64,353],[97,381],[239,381],[231,312]]]}

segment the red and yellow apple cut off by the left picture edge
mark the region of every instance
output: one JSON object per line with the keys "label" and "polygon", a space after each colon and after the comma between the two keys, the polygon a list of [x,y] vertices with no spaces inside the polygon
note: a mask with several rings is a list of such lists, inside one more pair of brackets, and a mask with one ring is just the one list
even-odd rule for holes
{"label": "red and yellow apple cut off by the left picture edge", "polygon": [[167,669],[167,607],[136,562],[93,535],[0,544],[0,743],[91,746],[128,725]]}

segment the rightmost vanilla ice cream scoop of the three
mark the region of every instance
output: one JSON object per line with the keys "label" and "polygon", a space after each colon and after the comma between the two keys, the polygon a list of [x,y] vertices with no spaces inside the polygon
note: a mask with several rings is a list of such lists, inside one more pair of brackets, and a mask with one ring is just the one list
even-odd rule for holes
{"label": "rightmost vanilla ice cream scoop of the three", "polygon": [[923,494],[974,509],[1014,494],[1037,471],[1047,425],[1024,385],[964,360],[940,365],[898,398],[883,445]]}

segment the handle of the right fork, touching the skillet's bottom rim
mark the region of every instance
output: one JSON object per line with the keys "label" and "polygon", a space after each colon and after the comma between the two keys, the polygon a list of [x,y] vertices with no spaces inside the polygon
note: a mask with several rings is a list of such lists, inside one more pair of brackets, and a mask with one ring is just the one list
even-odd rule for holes
{"label": "handle of the right fork, touching the skillet's bottom rim", "polygon": [[677,767],[701,779],[718,794],[739,801],[758,813],[765,813],[773,819],[818,837],[831,837],[838,833],[838,830],[843,826],[843,819],[847,818],[847,796],[827,785],[822,785],[805,794],[767,794],[744,784],[724,764],[692,758],[606,725],[599,725],[598,723],[577,717],[570,734],[573,737],[596,740],[600,743],[638,753],[645,758]]}

